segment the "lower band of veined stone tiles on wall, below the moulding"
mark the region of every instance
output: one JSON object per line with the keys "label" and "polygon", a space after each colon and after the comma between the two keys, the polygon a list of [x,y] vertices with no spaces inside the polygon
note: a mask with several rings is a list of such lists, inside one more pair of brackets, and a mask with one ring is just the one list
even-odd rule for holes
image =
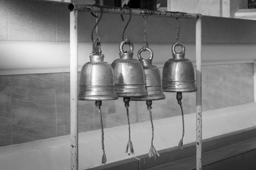
{"label": "lower band of veined stone tiles on wall, below the moulding", "polygon": [[[180,115],[176,93],[153,101],[153,119]],[[253,64],[202,66],[202,108],[254,102]],[[195,92],[183,93],[184,114],[195,113]],[[103,101],[105,128],[126,125],[122,98]],[[130,102],[130,123],[149,121],[146,102]],[[94,101],[79,101],[79,132],[100,128]],[[0,146],[70,134],[70,74],[0,76]]]}

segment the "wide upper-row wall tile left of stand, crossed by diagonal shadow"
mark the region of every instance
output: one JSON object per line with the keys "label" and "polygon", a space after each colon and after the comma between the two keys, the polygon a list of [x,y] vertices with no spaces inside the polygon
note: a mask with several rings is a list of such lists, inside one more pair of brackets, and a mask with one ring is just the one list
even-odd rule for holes
{"label": "wide upper-row wall tile left of stand, crossed by diagonal shadow", "polygon": [[56,41],[56,4],[8,0],[8,40]]}

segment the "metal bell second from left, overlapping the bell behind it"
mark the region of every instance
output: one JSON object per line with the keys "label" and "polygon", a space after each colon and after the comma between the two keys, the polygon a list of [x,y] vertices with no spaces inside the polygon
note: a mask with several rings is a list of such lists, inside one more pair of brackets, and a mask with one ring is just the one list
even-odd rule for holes
{"label": "metal bell second from left, overlapping the bell behind it", "polygon": [[[130,50],[124,52],[123,46],[128,44]],[[119,45],[120,58],[113,61],[116,93],[119,97],[141,97],[148,93],[145,88],[144,72],[140,62],[133,57],[133,44],[126,39]]]}

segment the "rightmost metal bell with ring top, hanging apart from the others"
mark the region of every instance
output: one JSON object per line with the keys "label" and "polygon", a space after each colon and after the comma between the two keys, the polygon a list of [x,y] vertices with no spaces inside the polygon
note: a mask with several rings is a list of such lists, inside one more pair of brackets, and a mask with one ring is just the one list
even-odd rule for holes
{"label": "rightmost metal bell with ring top, hanging apart from the others", "polygon": [[[182,51],[177,53],[176,46]],[[176,42],[172,46],[173,58],[166,61],[163,68],[163,91],[166,92],[194,92],[197,91],[193,64],[185,57],[185,46]]]}

